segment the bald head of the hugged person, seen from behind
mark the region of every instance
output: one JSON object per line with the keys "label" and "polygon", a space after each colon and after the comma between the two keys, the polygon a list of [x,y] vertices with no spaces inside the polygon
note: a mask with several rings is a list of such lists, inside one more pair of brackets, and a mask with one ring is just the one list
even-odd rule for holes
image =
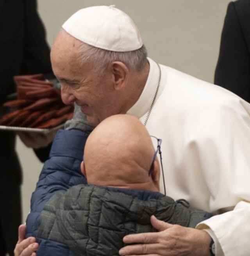
{"label": "bald head of the hugged person, seen from behind", "polygon": [[154,146],[145,126],[130,115],[112,115],[89,135],[84,149],[88,184],[159,191],[159,163],[148,171]]}

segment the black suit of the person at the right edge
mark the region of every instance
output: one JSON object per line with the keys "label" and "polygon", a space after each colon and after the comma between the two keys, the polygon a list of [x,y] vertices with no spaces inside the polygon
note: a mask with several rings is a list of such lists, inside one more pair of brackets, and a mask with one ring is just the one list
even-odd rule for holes
{"label": "black suit of the person at the right edge", "polygon": [[250,1],[230,2],[214,83],[250,102]]}

